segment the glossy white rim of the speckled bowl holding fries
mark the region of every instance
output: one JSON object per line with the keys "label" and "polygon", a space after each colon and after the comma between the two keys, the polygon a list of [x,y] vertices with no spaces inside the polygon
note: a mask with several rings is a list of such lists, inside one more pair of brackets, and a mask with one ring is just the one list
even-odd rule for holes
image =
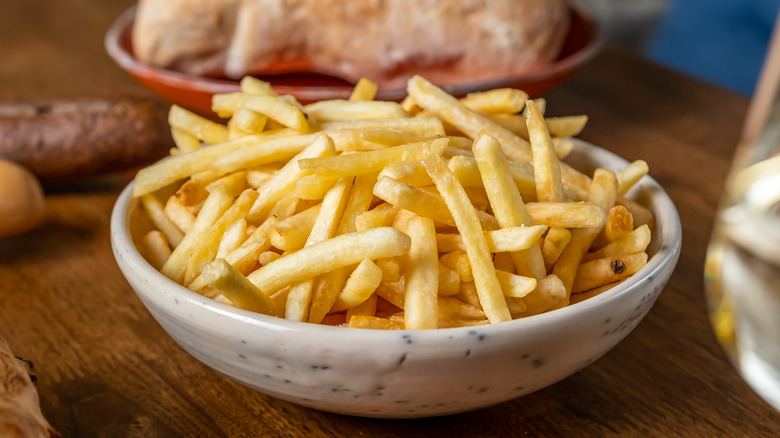
{"label": "glossy white rim of the speckled bowl holding fries", "polygon": [[[603,154],[610,161],[618,160],[617,162],[620,162],[624,165],[628,164],[624,158],[611,151],[600,148],[580,139],[574,139],[574,141],[575,149],[584,152],[586,157],[593,156],[594,153]],[[506,331],[516,332],[522,331],[523,328],[538,327],[540,325],[555,326],[564,324],[571,318],[577,318],[578,315],[585,315],[597,311],[599,308],[605,306],[610,301],[620,300],[628,294],[636,292],[635,288],[641,283],[652,282],[654,280],[657,281],[657,279],[663,278],[659,276],[658,273],[667,267],[667,265],[672,264],[672,269],[674,266],[676,266],[682,246],[682,226],[677,208],[666,191],[650,175],[644,176],[639,184],[641,184],[643,187],[646,187],[647,189],[652,190],[652,196],[655,200],[657,200],[656,203],[660,202],[661,206],[664,207],[663,210],[653,212],[656,217],[656,225],[658,225],[661,216],[669,219],[669,229],[664,229],[661,240],[658,241],[658,250],[655,254],[653,254],[652,257],[650,257],[647,264],[642,267],[639,272],[632,275],[631,277],[628,277],[628,279],[613,287],[612,289],[581,302],[570,304],[566,307],[538,315],[477,327],[451,327],[431,330],[369,330],[343,326],[329,326],[325,324],[290,321],[284,318],[263,315],[236,308],[228,304],[223,304],[210,298],[206,298],[197,292],[193,292],[186,287],[169,280],[162,273],[152,267],[143,258],[143,256],[141,256],[140,252],[133,244],[133,239],[130,236],[128,223],[130,221],[132,212],[131,206],[137,208],[139,205],[139,201],[132,197],[134,181],[131,181],[123,189],[122,193],[114,204],[111,215],[111,243],[114,247],[114,256],[117,258],[117,263],[120,265],[120,268],[123,268],[122,263],[119,261],[120,257],[118,256],[118,254],[121,252],[123,254],[122,257],[127,262],[127,265],[129,265],[130,269],[132,269],[135,274],[138,274],[141,278],[145,277],[146,282],[150,285],[162,288],[161,291],[156,292],[164,291],[166,294],[170,295],[172,298],[175,298],[178,301],[188,302],[198,307],[205,307],[214,313],[221,314],[231,319],[241,320],[252,325],[271,328],[277,331],[296,331],[302,334],[310,334],[314,336],[323,336],[324,333],[328,334],[329,336],[334,334],[355,336],[358,334],[361,337],[367,337],[369,339],[382,338],[387,336],[388,333],[392,333],[393,336],[396,336],[396,334],[399,332],[414,332],[418,339],[422,337],[429,338],[433,341],[439,340],[442,337],[451,337],[452,335],[456,334],[467,334],[469,332],[473,332],[477,328],[480,331],[488,330],[489,332],[494,333],[501,333]],[[660,213],[663,213],[663,215]],[[122,270],[124,273],[124,269]],[[126,275],[127,274],[125,274],[125,276]],[[149,294],[146,291],[135,290],[135,292],[137,295],[139,295],[139,297],[144,295],[151,299],[157,299],[154,297],[154,294]]]}

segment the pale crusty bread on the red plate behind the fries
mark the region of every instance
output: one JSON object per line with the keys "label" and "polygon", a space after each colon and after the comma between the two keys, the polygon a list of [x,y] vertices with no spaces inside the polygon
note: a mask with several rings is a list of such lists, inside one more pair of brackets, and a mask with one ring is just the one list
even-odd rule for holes
{"label": "pale crusty bread on the red plate behind the fries", "polygon": [[565,0],[140,0],[133,45],[142,62],[197,75],[451,84],[554,60],[569,21]]}

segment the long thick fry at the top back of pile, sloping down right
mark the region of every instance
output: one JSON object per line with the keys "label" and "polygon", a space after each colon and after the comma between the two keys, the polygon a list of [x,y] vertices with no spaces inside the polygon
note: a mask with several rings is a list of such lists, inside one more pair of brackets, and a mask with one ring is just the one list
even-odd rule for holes
{"label": "long thick fry at the top back of pile, sloping down right", "polygon": [[531,161],[531,147],[527,141],[516,136],[484,114],[474,111],[446,91],[420,76],[409,79],[407,91],[419,106],[436,114],[443,121],[454,125],[471,138],[481,131],[498,140],[504,154],[510,160]]}

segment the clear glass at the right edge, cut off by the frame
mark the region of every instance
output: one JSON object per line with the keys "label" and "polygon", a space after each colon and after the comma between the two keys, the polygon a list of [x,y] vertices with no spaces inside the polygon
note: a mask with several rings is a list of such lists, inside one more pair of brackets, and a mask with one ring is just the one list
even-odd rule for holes
{"label": "clear glass at the right edge, cut off by the frame", "polygon": [[745,119],[707,251],[710,320],[744,379],[780,410],[780,36]]}

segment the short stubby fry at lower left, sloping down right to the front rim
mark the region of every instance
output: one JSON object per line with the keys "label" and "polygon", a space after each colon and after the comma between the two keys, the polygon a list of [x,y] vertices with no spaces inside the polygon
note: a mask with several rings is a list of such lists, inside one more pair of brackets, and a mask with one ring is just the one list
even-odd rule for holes
{"label": "short stubby fry at lower left, sloping down right to the front rim", "polygon": [[273,300],[224,259],[216,259],[203,266],[203,281],[237,307],[266,315],[276,316],[278,313]]}

